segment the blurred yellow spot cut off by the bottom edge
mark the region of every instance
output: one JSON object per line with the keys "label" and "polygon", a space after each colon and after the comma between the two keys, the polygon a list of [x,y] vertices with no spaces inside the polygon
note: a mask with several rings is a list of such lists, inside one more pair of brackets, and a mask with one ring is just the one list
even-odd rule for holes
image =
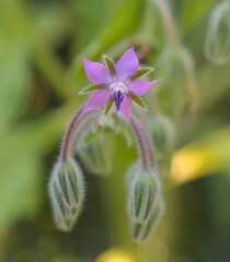
{"label": "blurred yellow spot cut off by the bottom edge", "polygon": [[135,262],[130,255],[118,249],[110,249],[95,260],[95,262]]}

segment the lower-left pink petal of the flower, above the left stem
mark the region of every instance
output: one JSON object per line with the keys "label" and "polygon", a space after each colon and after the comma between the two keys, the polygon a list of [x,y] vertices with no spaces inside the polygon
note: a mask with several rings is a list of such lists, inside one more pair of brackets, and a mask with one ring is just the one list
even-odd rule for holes
{"label": "lower-left pink petal of the flower, above the left stem", "polygon": [[97,90],[93,93],[88,100],[87,105],[83,107],[83,111],[90,111],[99,109],[105,106],[110,99],[110,92],[107,90]]}

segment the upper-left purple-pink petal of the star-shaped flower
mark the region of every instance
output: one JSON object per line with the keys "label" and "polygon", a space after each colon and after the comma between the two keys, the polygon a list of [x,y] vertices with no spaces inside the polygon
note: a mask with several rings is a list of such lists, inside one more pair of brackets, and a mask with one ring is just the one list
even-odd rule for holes
{"label": "upper-left purple-pink petal of the star-shaped flower", "polygon": [[111,71],[102,63],[83,58],[84,71],[93,84],[111,84],[113,82]]}

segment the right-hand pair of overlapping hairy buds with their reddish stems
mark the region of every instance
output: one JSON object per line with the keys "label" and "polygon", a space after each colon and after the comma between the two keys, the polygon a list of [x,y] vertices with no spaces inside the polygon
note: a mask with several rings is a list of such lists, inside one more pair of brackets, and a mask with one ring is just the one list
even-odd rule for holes
{"label": "right-hand pair of overlapping hairy buds with their reddish stems", "polygon": [[152,143],[148,130],[131,118],[131,127],[140,147],[140,159],[126,175],[128,188],[128,216],[131,236],[142,241],[150,235],[163,210],[161,181],[157,169]]}

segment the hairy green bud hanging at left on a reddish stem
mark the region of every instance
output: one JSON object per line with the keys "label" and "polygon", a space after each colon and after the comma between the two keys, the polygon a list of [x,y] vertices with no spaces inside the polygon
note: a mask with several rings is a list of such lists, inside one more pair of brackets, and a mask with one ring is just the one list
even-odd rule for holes
{"label": "hairy green bud hanging at left on a reddish stem", "polygon": [[49,196],[58,229],[72,229],[81,211],[84,184],[81,169],[73,159],[58,162],[49,181]]}

